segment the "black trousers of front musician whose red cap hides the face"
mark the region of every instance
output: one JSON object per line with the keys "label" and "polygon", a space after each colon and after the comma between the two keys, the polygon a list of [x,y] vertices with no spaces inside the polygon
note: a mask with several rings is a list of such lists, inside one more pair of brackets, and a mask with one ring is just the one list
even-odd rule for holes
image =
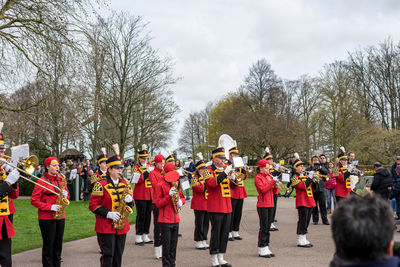
{"label": "black trousers of front musician whose red cap hides the face", "polygon": [[160,223],[164,267],[175,266],[179,223]]}

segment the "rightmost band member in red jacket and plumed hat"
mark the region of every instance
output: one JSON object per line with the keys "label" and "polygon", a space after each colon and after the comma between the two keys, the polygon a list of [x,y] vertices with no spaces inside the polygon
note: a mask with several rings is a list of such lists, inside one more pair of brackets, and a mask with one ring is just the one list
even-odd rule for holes
{"label": "rightmost band member in red jacket and plumed hat", "polygon": [[350,194],[350,171],[347,166],[347,154],[344,147],[340,147],[340,154],[338,155],[339,164],[339,176],[336,177],[336,187],[335,187],[335,198],[336,202],[339,203],[340,200],[347,197]]}

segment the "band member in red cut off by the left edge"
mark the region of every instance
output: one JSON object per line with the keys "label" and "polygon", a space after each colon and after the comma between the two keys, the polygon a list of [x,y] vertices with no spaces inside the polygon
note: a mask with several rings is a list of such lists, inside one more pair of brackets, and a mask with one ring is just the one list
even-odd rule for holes
{"label": "band member in red cut off by the left edge", "polygon": [[[15,206],[13,199],[18,198],[18,170],[5,163],[3,159],[6,150],[0,122],[0,266],[11,267],[11,237],[15,235],[12,225]],[[7,174],[8,173],[8,174]]]}

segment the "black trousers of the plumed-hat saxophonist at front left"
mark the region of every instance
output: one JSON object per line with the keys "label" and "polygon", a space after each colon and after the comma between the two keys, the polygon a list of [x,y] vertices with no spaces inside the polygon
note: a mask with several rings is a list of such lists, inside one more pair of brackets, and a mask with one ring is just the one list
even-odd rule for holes
{"label": "black trousers of the plumed-hat saxophonist at front left", "polygon": [[101,234],[97,233],[101,256],[101,267],[120,267],[122,254],[125,249],[126,234]]}

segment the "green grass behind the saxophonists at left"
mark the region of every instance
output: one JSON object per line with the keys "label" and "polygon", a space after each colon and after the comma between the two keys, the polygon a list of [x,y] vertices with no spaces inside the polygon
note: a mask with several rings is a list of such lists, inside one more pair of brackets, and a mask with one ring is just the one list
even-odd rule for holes
{"label": "green grass behind the saxophonists at left", "polygon": [[[37,218],[37,208],[30,204],[29,199],[14,200],[16,213],[14,214],[15,236],[12,238],[12,253],[42,247]],[[88,208],[86,201],[71,201],[65,208],[64,242],[94,236],[95,216]],[[136,209],[129,215],[129,223],[136,218]]]}

